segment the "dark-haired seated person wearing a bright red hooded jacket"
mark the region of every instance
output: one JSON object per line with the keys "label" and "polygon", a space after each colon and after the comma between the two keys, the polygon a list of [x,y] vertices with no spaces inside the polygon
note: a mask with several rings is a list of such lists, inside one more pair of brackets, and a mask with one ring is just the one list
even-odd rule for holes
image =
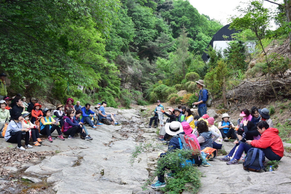
{"label": "dark-haired seated person wearing a bright red hooded jacket", "polygon": [[261,148],[267,159],[280,161],[283,157],[284,147],[280,136],[278,136],[278,129],[269,127],[266,121],[260,121],[257,123],[257,127],[261,138],[249,140],[246,143],[255,148]]}

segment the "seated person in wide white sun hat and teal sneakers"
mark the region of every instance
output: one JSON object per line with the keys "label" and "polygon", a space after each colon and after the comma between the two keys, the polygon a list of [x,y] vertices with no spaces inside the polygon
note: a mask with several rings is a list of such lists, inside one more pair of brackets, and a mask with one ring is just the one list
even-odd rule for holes
{"label": "seated person in wide white sun hat and teal sneakers", "polygon": [[[165,130],[167,134],[172,135],[173,137],[169,142],[167,152],[161,153],[158,157],[163,157],[164,155],[171,152],[172,150],[182,149],[182,143],[181,143],[180,137],[176,136],[178,134],[185,134],[185,132],[183,131],[182,124],[178,121],[172,121],[171,123],[166,123]],[[188,162],[188,160],[186,160],[186,162]],[[199,166],[202,161],[199,161],[197,157],[196,159],[189,160],[189,162],[191,162],[192,164],[197,164]],[[166,186],[166,183],[164,180],[164,171],[166,168],[168,169],[167,166],[164,166],[164,168],[162,168],[162,171],[158,174],[158,180],[154,184],[151,184],[152,188],[160,188],[160,187]],[[175,173],[175,172],[172,170],[172,173]]]}

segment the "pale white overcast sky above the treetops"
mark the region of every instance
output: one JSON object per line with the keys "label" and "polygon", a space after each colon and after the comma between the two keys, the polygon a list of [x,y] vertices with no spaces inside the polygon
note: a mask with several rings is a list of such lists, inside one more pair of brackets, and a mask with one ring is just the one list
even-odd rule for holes
{"label": "pale white overcast sky above the treetops", "polygon": [[[249,0],[189,0],[191,5],[193,5],[200,14],[209,15],[210,19],[214,18],[223,25],[228,24],[228,18],[230,15],[239,15],[239,12],[235,10],[238,5],[243,6],[240,2],[249,2]],[[283,2],[282,0],[277,1],[277,3]],[[277,5],[264,1],[264,7],[272,8],[273,10],[277,8]],[[274,22],[271,24],[273,28],[276,29]]]}

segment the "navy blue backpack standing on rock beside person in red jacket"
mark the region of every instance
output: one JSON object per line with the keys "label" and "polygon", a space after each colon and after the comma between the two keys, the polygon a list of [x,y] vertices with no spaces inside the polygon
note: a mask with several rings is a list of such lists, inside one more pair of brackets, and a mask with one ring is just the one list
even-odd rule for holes
{"label": "navy blue backpack standing on rock beside person in red jacket", "polygon": [[262,159],[265,158],[265,154],[262,150],[258,148],[251,148],[249,149],[248,153],[246,154],[246,158],[243,163],[244,170],[259,172],[261,169],[265,169],[262,163]]}

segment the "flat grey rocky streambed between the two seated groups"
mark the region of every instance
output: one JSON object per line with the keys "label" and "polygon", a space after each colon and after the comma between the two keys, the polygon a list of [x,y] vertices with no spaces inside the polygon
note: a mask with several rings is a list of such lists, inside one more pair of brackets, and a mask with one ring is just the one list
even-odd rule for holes
{"label": "flat grey rocky streambed between the two seated groups", "polygon": [[[145,128],[147,124],[144,122],[148,123],[149,119],[142,118],[139,109],[107,107],[106,111],[118,114],[117,121],[122,125],[87,127],[94,138],[92,141],[79,137],[65,141],[56,139],[52,143],[44,141],[43,146],[22,152],[42,155],[32,160],[20,160],[17,165],[1,163],[10,174],[0,180],[0,193],[161,193],[158,189],[141,189],[155,169],[157,150],[139,155],[133,166],[129,163],[131,153],[139,143],[162,143],[156,139],[157,129]],[[56,136],[56,132],[53,135]],[[0,146],[8,151],[16,145],[0,139]],[[228,152],[233,143],[224,143],[223,148]],[[211,161],[214,166],[198,167],[204,173],[198,193],[290,193],[290,162],[290,155],[285,153],[277,170],[249,173],[243,170],[242,164],[229,166],[219,160]]]}

